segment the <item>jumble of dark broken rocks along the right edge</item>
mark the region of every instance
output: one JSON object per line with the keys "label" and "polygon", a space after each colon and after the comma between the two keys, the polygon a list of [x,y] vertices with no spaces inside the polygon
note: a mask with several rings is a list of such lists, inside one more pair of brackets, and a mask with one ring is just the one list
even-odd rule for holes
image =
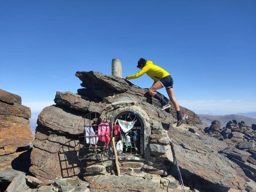
{"label": "jumble of dark broken rocks along the right edge", "polygon": [[226,127],[221,127],[220,122],[214,120],[204,131],[206,135],[227,143],[228,147],[220,153],[238,164],[246,176],[256,182],[255,124],[246,126],[245,122],[232,120]]}

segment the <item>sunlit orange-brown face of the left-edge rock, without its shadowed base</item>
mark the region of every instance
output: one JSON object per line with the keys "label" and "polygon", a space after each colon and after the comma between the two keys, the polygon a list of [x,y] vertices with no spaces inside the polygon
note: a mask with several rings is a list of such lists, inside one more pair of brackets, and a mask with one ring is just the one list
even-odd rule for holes
{"label": "sunlit orange-brown face of the left-edge rock, without its shadowed base", "polygon": [[21,104],[21,97],[0,89],[0,170],[11,163],[33,141],[30,130],[30,108]]}

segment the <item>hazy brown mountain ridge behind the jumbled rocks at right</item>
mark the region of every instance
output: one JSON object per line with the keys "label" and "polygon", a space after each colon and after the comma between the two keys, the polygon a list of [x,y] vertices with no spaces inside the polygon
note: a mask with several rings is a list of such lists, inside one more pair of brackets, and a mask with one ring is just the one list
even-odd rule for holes
{"label": "hazy brown mountain ridge behind the jumbled rocks at right", "polygon": [[210,126],[213,120],[218,120],[222,127],[225,127],[227,122],[235,119],[238,122],[245,122],[247,126],[251,126],[251,124],[256,124],[256,119],[252,117],[242,116],[242,115],[199,115],[201,121],[205,124],[205,126]]}

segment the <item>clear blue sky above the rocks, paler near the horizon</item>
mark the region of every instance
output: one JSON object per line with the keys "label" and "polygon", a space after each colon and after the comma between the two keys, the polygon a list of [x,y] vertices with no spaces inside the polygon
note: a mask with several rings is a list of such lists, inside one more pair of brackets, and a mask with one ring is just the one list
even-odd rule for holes
{"label": "clear blue sky above the rocks, paler near the horizon", "polygon": [[184,107],[256,111],[255,10],[254,0],[0,0],[0,88],[40,111],[56,91],[80,88],[77,70],[110,75],[119,58],[127,76],[145,57],[173,76]]}

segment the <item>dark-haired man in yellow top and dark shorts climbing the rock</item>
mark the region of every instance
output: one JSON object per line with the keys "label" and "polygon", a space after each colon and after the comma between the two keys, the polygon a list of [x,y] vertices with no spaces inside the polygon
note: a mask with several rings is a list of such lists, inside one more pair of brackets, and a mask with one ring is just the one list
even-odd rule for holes
{"label": "dark-haired man in yellow top and dark shorts climbing the rock", "polygon": [[148,92],[151,96],[156,98],[160,101],[162,107],[161,110],[164,110],[170,107],[168,101],[164,99],[159,93],[156,92],[157,89],[161,89],[162,87],[166,88],[166,92],[169,96],[170,101],[172,101],[176,113],[177,113],[177,127],[179,127],[183,121],[184,117],[180,111],[180,105],[178,101],[174,97],[174,90],[173,90],[173,79],[166,70],[162,69],[158,65],[154,65],[152,61],[147,61],[144,58],[140,58],[138,61],[137,68],[141,69],[139,72],[135,73],[134,75],[127,76],[123,78],[124,80],[127,79],[136,79],[146,73],[149,77],[154,80],[152,87],[149,88]]}

